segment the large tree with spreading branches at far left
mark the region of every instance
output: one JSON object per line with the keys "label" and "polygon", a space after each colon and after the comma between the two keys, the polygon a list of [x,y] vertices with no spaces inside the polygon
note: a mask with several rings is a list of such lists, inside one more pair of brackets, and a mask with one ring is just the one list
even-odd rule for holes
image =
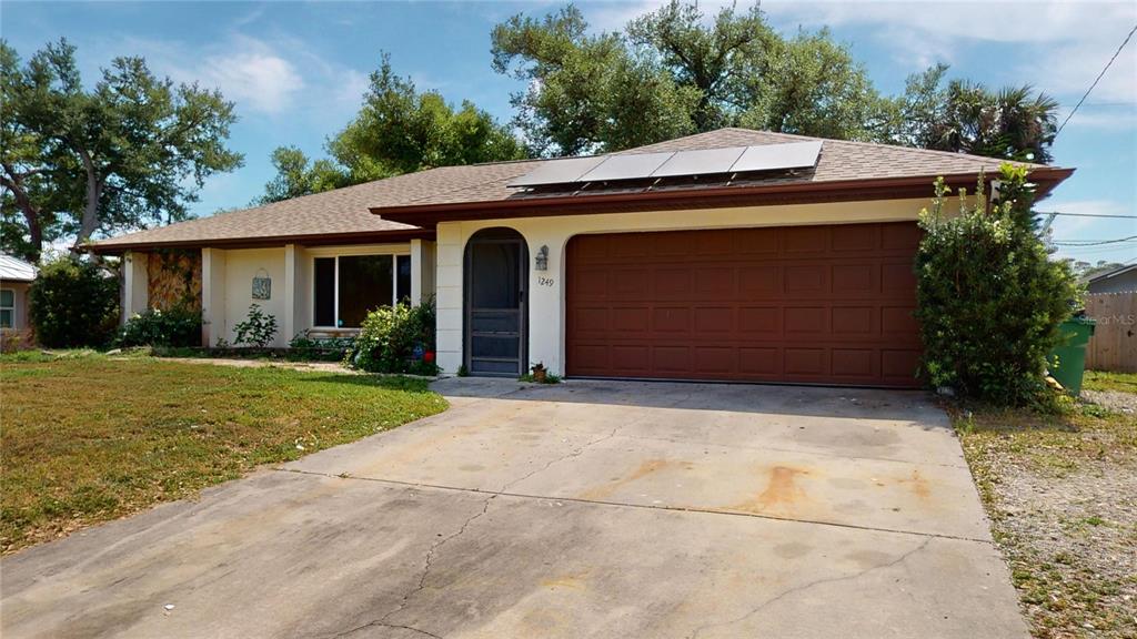
{"label": "large tree with spreading branches at far left", "polygon": [[0,247],[38,260],[44,242],[185,219],[206,177],[241,165],[225,142],[236,121],[215,90],[175,85],[138,57],[115,58],[92,90],[75,47],[50,43],[26,64],[0,41]]}

